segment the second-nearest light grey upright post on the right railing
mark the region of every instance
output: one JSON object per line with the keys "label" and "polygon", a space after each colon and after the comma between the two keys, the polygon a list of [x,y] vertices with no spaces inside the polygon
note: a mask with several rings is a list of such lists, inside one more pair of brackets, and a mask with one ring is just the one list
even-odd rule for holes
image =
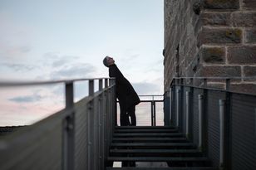
{"label": "second-nearest light grey upright post on the right railing", "polygon": [[202,143],[203,143],[203,122],[202,122],[202,116],[203,116],[203,95],[198,95],[199,100],[199,150],[202,151]]}

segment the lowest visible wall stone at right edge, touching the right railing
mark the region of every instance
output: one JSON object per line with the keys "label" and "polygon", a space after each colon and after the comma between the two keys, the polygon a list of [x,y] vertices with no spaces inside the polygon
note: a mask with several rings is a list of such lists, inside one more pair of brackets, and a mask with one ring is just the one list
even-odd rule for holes
{"label": "lowest visible wall stone at right edge, touching the right railing", "polygon": [[231,84],[230,90],[234,92],[242,92],[249,95],[256,95],[256,85],[254,84]]}

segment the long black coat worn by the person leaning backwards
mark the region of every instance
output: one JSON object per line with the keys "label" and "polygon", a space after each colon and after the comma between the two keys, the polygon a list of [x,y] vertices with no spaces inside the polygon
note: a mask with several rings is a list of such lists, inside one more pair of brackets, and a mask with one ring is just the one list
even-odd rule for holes
{"label": "long black coat worn by the person leaning backwards", "polygon": [[116,65],[109,67],[109,76],[116,78],[116,98],[120,102],[126,102],[128,107],[140,103],[140,98],[134,88],[130,85],[130,82],[126,80],[124,75],[122,75]]}

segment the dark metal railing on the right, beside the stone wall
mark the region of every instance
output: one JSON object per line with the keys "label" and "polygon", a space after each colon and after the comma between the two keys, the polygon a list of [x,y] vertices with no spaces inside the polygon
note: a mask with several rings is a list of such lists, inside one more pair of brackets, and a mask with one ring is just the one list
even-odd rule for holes
{"label": "dark metal railing on the right, beside the stone wall", "polygon": [[226,90],[208,88],[207,79],[201,77],[202,87],[195,86],[191,82],[196,79],[172,81],[165,95],[170,101],[165,105],[170,108],[167,123],[197,144],[215,167],[255,169],[256,95],[229,91],[232,78],[215,78],[226,83]]}

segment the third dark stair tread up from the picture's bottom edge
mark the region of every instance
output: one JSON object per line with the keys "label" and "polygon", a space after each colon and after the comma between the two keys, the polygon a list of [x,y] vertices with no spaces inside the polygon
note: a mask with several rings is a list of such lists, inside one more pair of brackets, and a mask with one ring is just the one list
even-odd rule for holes
{"label": "third dark stair tread up from the picture's bottom edge", "polygon": [[111,149],[111,153],[200,153],[198,149]]}

